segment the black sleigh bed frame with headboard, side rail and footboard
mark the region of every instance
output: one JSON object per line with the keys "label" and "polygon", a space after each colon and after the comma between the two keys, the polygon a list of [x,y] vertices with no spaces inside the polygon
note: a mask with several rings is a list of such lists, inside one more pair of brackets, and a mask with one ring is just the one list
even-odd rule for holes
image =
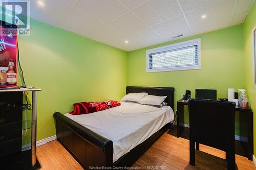
{"label": "black sleigh bed frame with headboard, side rail and footboard", "polygon": [[[174,110],[173,87],[134,87],[127,86],[127,93],[147,92],[164,96],[165,102]],[[144,142],[137,145],[113,162],[113,142],[90,129],[83,127],[60,112],[54,113],[57,140],[71,153],[84,169],[129,167],[133,165],[171,126],[166,124]]]}

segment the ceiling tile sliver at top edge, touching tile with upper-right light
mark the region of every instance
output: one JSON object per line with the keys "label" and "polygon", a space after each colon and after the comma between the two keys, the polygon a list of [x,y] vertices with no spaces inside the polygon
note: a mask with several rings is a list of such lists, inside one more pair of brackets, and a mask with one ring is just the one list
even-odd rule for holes
{"label": "ceiling tile sliver at top edge, touching tile with upper-right light", "polygon": [[188,12],[217,0],[179,0],[183,12]]}

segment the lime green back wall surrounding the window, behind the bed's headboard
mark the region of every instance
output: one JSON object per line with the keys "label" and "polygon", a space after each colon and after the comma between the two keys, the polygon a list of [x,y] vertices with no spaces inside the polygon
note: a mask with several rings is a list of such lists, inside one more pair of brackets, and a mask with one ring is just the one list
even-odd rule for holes
{"label": "lime green back wall surrounding the window, behind the bed's headboard", "polygon": [[[201,38],[201,69],[145,72],[145,51],[150,48]],[[166,42],[128,53],[128,85],[175,87],[175,101],[185,90],[217,89],[218,98],[227,98],[228,88],[244,88],[242,25]],[[176,109],[176,102],[175,102]],[[186,116],[187,123],[188,116]],[[238,125],[237,125],[238,134]]]}

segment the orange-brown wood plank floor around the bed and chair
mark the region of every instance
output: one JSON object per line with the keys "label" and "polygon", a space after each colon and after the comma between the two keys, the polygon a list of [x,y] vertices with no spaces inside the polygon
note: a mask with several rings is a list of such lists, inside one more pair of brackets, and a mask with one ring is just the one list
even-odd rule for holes
{"label": "orange-brown wood plank floor around the bed and chair", "polygon": [[[201,152],[203,151],[203,152]],[[207,154],[208,153],[208,154]],[[212,155],[209,155],[212,154]],[[215,156],[213,156],[215,155]],[[62,147],[58,141],[52,141],[37,148],[37,158],[41,170],[83,169],[79,163]],[[223,158],[223,159],[222,159]],[[146,169],[227,169],[225,153],[205,145],[200,145],[196,152],[196,166],[189,161],[189,140],[176,138],[165,133],[154,145],[133,165]],[[252,161],[236,155],[238,169],[256,169]],[[148,167],[147,167],[148,166]],[[142,168],[141,168],[142,169]]]}

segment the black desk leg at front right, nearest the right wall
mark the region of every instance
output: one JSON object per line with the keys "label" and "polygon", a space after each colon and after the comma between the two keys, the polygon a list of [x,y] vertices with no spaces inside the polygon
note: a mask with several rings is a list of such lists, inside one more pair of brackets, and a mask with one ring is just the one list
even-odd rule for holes
{"label": "black desk leg at front right, nearest the right wall", "polygon": [[247,122],[248,122],[248,147],[247,147],[247,157],[249,160],[252,160],[253,154],[253,113],[247,114]]}

